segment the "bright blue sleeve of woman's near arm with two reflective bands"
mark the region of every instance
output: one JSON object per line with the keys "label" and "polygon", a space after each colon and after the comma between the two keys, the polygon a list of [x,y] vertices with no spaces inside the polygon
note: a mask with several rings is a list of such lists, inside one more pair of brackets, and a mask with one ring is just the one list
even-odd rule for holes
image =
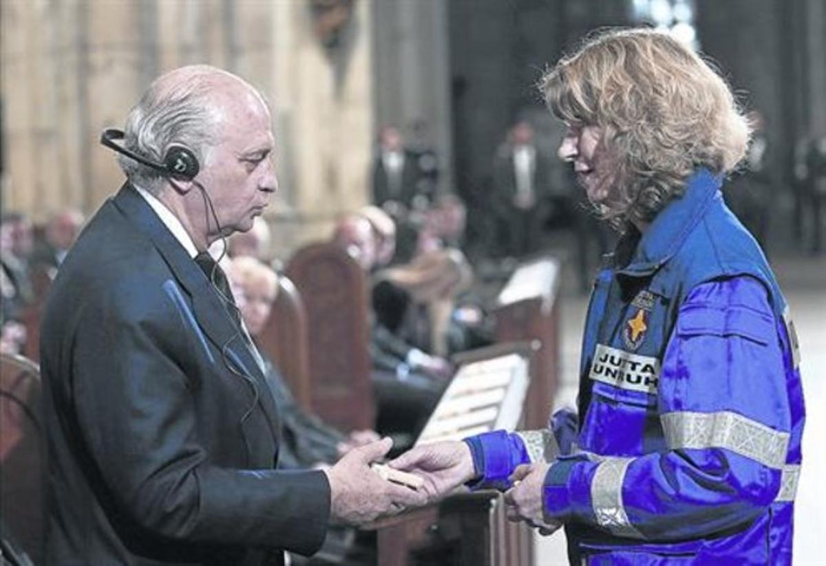
{"label": "bright blue sleeve of woman's near arm with two reflective bands", "polygon": [[765,512],[781,487],[790,432],[780,324],[751,277],[691,290],[662,360],[657,410],[667,450],[561,458],[545,479],[548,516],[677,540]]}

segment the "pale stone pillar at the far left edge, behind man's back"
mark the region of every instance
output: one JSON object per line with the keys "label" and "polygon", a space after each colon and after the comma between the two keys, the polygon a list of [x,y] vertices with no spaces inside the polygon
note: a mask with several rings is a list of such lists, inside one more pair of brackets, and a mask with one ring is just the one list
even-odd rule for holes
{"label": "pale stone pillar at the far left edge, behind man's back", "polygon": [[9,0],[2,20],[2,203],[42,220],[83,205],[76,101],[78,2]]}

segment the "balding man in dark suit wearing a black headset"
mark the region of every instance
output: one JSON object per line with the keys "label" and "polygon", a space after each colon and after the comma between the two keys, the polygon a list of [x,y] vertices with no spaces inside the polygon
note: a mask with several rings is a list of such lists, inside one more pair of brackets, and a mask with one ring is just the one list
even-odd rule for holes
{"label": "balding man in dark suit wearing a black headset", "polygon": [[60,268],[43,321],[49,564],[282,564],[328,523],[419,496],[369,469],[284,472],[278,407],[221,267],[277,188],[263,97],[219,69],[155,81],[127,120],[128,181]]}

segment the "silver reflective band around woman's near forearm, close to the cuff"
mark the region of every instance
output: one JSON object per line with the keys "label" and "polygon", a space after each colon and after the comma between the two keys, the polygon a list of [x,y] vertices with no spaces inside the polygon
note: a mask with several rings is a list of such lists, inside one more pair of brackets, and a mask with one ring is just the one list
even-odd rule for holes
{"label": "silver reflective band around woman's near forearm, close to the cuff", "polygon": [[594,479],[591,480],[591,507],[596,515],[596,522],[617,536],[644,539],[645,537],[631,525],[622,502],[625,470],[634,459],[613,456],[604,458],[605,460],[596,466]]}

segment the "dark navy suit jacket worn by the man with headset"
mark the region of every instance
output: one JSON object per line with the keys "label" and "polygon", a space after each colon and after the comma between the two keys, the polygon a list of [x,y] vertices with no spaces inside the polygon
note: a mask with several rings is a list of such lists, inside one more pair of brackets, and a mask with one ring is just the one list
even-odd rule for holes
{"label": "dark navy suit jacket worn by the man with headset", "polygon": [[61,266],[40,355],[48,564],[281,564],[271,549],[318,549],[325,474],[273,469],[277,408],[252,352],[131,186]]}

